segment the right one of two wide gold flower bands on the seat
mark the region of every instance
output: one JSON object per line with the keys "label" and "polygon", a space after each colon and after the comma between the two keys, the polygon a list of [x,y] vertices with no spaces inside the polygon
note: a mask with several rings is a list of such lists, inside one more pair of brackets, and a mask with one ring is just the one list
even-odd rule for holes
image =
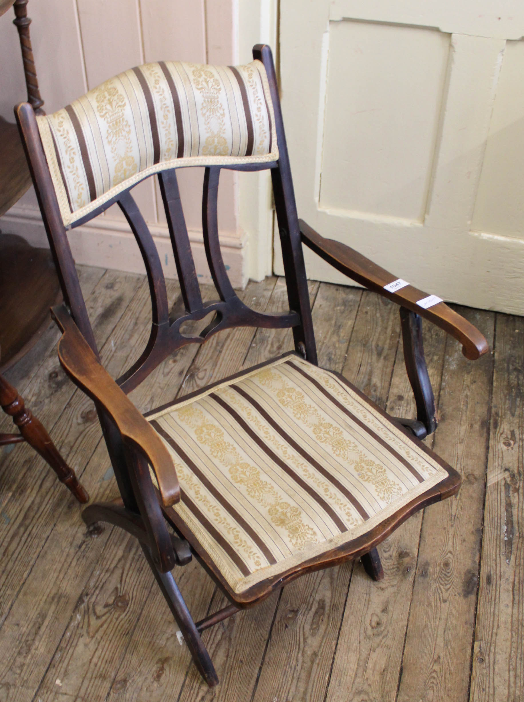
{"label": "right one of two wide gold flower bands on the seat", "polygon": [[383,465],[366,458],[358,444],[344,436],[340,427],[326,420],[318,407],[307,402],[304,393],[287,383],[281,373],[271,368],[264,369],[257,374],[257,382],[270,387],[278,402],[293,413],[295,420],[311,430],[319,444],[328,447],[337,458],[350,463],[359,479],[372,484],[380,499],[390,503],[403,494],[401,485],[387,475]]}

